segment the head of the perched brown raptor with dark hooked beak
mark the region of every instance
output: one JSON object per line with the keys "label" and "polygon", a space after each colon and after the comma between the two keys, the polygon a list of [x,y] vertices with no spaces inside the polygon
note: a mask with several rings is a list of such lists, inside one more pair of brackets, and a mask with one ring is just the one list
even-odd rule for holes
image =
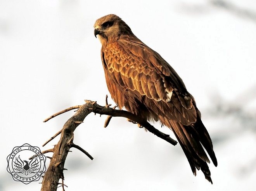
{"label": "head of the perched brown raptor with dark hooked beak", "polygon": [[132,34],[130,27],[117,15],[110,14],[96,20],[94,36],[102,45],[117,41],[122,34]]}

